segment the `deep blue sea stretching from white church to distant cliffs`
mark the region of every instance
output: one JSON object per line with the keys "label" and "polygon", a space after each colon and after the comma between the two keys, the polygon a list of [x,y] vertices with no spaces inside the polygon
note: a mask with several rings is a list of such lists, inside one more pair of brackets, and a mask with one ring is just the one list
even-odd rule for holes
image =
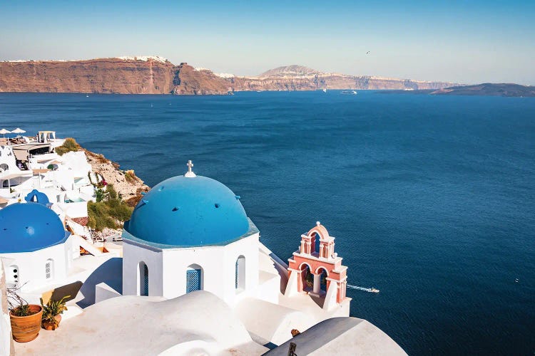
{"label": "deep blue sea stretching from white church to distant cliffs", "polygon": [[348,289],[351,315],[409,355],[535,352],[535,98],[2,93],[0,127],[75,137],[149,186],[192,159],[284,260],[321,221],[349,283],[381,290]]}

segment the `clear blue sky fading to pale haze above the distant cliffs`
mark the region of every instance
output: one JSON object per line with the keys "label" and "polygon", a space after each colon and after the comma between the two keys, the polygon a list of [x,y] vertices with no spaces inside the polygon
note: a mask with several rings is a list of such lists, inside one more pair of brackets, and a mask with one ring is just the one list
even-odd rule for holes
{"label": "clear blue sky fading to pale haze above the distant cliffs", "polygon": [[0,0],[0,30],[0,60],[158,55],[236,75],[301,64],[535,85],[535,0]]}

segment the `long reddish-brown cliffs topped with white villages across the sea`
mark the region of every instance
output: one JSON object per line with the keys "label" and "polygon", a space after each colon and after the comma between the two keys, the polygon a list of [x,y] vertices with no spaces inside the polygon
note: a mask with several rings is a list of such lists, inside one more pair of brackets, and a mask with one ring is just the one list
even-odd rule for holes
{"label": "long reddish-brown cliffs topped with white villages across the sea", "polygon": [[263,90],[439,90],[457,83],[322,73],[283,66],[258,76],[213,73],[159,56],[0,62],[0,92],[222,95]]}

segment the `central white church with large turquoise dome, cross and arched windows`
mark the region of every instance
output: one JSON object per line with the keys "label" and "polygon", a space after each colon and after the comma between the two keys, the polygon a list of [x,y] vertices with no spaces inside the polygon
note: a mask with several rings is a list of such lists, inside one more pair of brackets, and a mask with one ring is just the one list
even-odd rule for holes
{"label": "central white church with large turquoise dome, cross and arched windows", "polygon": [[153,187],[125,224],[123,294],[208,290],[229,305],[256,297],[258,239],[240,197],[190,167]]}

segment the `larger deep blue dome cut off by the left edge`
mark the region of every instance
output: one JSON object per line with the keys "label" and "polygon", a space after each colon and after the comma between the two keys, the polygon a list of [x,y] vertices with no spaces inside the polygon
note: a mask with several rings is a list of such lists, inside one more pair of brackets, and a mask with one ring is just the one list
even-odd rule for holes
{"label": "larger deep blue dome cut off by the left edge", "polygon": [[57,214],[39,203],[16,203],[0,210],[0,253],[32,252],[62,244],[69,233]]}

